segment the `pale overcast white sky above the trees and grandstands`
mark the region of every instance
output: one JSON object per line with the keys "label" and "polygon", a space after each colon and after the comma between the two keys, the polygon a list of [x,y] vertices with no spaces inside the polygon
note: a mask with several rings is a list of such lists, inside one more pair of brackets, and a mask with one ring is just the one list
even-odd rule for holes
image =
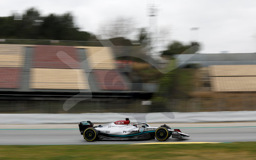
{"label": "pale overcast white sky above the trees and grandstands", "polygon": [[[158,14],[152,22],[148,6],[153,4]],[[0,16],[31,7],[41,15],[71,12],[81,31],[95,35],[104,22],[123,17],[133,19],[137,29],[154,31],[164,45],[198,41],[202,54],[256,52],[255,0],[1,0]]]}

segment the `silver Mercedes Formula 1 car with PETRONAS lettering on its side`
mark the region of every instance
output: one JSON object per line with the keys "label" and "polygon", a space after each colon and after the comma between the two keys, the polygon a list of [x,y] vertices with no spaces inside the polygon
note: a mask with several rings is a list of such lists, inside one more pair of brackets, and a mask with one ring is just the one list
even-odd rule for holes
{"label": "silver Mercedes Formula 1 car with PETRONAS lettering on its side", "polygon": [[147,123],[130,124],[129,118],[95,127],[91,121],[82,121],[78,126],[83,138],[89,142],[94,140],[134,141],[155,138],[159,141],[165,141],[170,136],[179,139],[189,137],[189,135],[182,133],[180,129],[171,129],[166,124],[160,127],[151,127]]}

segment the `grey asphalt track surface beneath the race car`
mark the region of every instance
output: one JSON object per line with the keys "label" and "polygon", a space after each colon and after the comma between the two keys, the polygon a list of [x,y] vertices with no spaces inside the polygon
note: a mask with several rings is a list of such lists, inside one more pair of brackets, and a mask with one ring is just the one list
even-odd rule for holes
{"label": "grey asphalt track surface beneath the race car", "polygon": [[148,141],[94,141],[83,139],[78,129],[0,129],[0,145],[90,145],[138,144],[166,142],[251,142],[256,141],[256,126],[237,127],[184,127],[190,135],[185,139],[168,139],[164,142]]}

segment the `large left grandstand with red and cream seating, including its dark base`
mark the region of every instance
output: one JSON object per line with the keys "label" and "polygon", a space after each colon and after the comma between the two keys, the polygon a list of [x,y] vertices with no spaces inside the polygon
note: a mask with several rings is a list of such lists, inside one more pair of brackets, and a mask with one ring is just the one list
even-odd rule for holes
{"label": "large left grandstand with red and cream seating, including its dark base", "polygon": [[110,47],[53,44],[0,44],[2,112],[58,113],[77,94],[78,101],[90,98],[70,112],[116,112],[156,92],[152,84],[132,83],[127,76],[132,61],[116,61]]}

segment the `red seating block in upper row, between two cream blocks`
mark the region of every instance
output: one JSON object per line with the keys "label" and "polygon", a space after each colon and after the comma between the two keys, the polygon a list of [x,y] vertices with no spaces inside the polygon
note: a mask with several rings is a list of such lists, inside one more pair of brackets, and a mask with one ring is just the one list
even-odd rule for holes
{"label": "red seating block in upper row, between two cream blocks", "polygon": [[[59,59],[57,53],[65,52],[71,58]],[[79,59],[73,46],[36,45],[33,54],[33,68],[79,69]]]}

